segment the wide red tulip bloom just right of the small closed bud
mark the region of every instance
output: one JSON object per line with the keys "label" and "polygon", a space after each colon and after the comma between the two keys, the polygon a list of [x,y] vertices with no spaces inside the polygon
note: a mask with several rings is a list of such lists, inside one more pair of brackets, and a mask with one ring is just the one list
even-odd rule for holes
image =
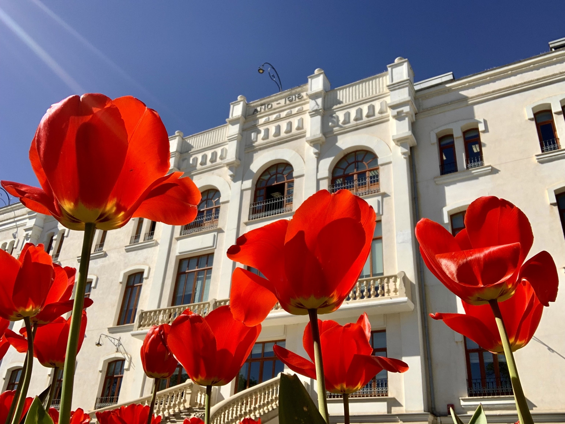
{"label": "wide red tulip bloom just right of the small closed bud", "polygon": [[173,321],[167,344],[193,382],[223,386],[236,377],[260,332],[260,324],[236,321],[229,306],[205,318],[187,309]]}

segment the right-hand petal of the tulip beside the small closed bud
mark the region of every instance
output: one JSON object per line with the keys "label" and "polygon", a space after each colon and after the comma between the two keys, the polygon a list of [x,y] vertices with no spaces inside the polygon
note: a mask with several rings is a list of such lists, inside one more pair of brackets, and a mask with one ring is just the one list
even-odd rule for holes
{"label": "right-hand petal of the tulip beside the small closed bud", "polygon": [[[261,332],[261,325],[248,327],[233,318],[229,306],[220,306],[205,318],[216,338],[216,385],[231,382],[249,357]],[[222,384],[217,384],[222,383]]]}

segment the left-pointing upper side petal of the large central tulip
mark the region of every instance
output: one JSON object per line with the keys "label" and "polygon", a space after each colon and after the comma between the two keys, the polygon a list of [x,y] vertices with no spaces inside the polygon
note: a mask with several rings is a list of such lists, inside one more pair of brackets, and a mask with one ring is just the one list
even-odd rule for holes
{"label": "left-pointing upper side petal of the large central tulip", "polygon": [[228,258],[258,269],[275,287],[285,284],[284,239],[288,223],[280,219],[238,237],[228,249]]}

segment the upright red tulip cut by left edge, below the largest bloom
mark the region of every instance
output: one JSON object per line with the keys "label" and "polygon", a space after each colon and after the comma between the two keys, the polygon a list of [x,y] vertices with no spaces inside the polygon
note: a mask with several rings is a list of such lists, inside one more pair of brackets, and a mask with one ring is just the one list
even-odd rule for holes
{"label": "upright red tulip cut by left edge, below the largest bloom", "polygon": [[18,259],[0,250],[0,317],[18,321],[40,313],[55,271],[42,244],[27,243]]}

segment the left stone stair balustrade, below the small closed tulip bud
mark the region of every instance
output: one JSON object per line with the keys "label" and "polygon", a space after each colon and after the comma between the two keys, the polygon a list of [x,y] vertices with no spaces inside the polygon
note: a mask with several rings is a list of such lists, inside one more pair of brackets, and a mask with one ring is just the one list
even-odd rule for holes
{"label": "left stone stair balustrade, below the small closed tulip bud", "polygon": [[[186,383],[157,392],[157,397],[155,397],[154,413],[163,417],[168,417],[176,413],[182,413],[189,408],[201,409],[204,407],[205,397],[206,387],[198,386],[198,384],[194,384],[192,380],[188,380]],[[138,399],[133,399],[129,402],[92,410],[89,412],[89,415],[90,418],[96,418],[97,412],[117,409],[120,408],[120,406],[127,406],[131,404],[149,405],[150,403],[151,395],[148,395]]]}

